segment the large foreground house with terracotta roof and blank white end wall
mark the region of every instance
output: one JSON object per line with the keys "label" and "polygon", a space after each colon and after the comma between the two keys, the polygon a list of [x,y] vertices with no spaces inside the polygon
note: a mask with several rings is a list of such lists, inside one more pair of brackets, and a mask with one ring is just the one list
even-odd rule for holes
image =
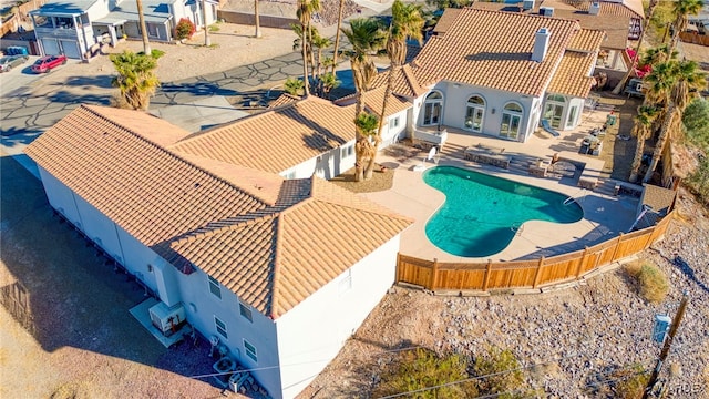
{"label": "large foreground house with terracotta roof and blank white end wall", "polygon": [[82,105],[27,153],[58,213],[183,306],[273,397],[292,398],[394,283],[411,221],[318,177],[184,152],[175,143],[187,135],[138,111]]}

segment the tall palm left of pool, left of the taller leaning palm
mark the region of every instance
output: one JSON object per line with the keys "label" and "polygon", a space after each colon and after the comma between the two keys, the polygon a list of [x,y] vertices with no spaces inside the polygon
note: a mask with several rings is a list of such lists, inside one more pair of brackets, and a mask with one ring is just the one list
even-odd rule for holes
{"label": "tall palm left of pool, left of the taller leaning palm", "polygon": [[[377,74],[377,65],[371,60],[371,54],[379,52],[384,45],[384,34],[381,32],[379,21],[371,18],[357,18],[350,21],[350,28],[341,28],[342,34],[352,45],[347,52],[352,68],[356,98],[354,121],[360,117],[364,104],[364,92],[370,89],[372,79]],[[356,158],[354,181],[364,180],[363,162],[371,153],[371,143],[362,130],[354,130]]]}

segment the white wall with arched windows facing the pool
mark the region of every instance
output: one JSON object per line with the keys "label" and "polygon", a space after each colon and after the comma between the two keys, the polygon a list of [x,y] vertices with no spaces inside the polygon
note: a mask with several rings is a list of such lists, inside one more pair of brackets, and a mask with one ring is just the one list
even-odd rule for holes
{"label": "white wall with arched windows facing the pool", "polygon": [[[511,101],[518,103],[523,109],[520,133],[516,141],[526,141],[536,129],[536,125],[531,121],[531,114],[536,99],[534,96],[467,84],[459,84],[459,88],[455,88],[453,83],[445,81],[439,82],[433,89],[443,93],[442,125],[466,130],[465,111],[467,109],[467,99],[471,95],[480,95],[485,100],[485,114],[483,115],[482,131],[476,134],[505,139],[500,136],[500,125],[502,123],[502,111],[505,104]],[[414,113],[414,121],[417,126],[420,126],[423,122],[423,104],[429,93],[430,92],[427,92],[415,101],[417,112]],[[495,110],[494,114],[492,113],[493,109]]]}

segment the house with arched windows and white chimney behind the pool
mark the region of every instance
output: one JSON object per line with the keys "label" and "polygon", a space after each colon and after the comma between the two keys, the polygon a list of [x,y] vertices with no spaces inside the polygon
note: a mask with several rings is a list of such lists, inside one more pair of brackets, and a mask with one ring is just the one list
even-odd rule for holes
{"label": "house with arched windows and white chimney behind the pool", "polygon": [[538,14],[449,11],[411,63],[415,85],[429,90],[413,100],[410,133],[455,127],[525,142],[542,120],[557,130],[580,123],[605,32]]}

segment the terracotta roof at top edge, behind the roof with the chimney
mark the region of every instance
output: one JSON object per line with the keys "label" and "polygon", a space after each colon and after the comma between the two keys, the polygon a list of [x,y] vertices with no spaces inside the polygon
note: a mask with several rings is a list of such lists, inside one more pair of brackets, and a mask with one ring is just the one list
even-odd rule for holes
{"label": "terracotta roof at top edge, behind the roof with the chimney", "polygon": [[540,6],[554,7],[554,17],[578,21],[582,28],[605,31],[607,40],[602,43],[602,48],[625,50],[628,42],[628,28],[630,25],[629,17],[615,16],[614,18],[604,18],[602,16],[590,16],[586,10],[580,11],[571,4],[562,1],[546,0],[543,3],[537,2],[532,10],[520,11],[518,6],[505,4],[504,2],[474,2],[472,8],[480,10],[497,10],[524,14],[538,14]]}

